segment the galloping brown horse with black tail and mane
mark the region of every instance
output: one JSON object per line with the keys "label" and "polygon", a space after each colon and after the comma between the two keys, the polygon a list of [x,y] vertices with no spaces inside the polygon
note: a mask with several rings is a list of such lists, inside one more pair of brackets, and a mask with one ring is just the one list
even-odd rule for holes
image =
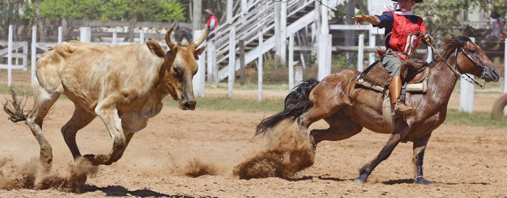
{"label": "galloping brown horse with black tail and mane", "polygon": [[430,64],[429,82],[425,94],[407,93],[406,103],[413,107],[410,116],[395,120],[391,133],[383,127],[382,95],[363,89],[354,83],[359,72],[344,70],[329,75],[321,82],[305,80],[285,98],[285,109],[261,121],[256,134],[264,134],[283,119],[298,120],[299,129],[308,137],[308,127],[324,119],[328,129],[311,130],[309,141],[315,147],[323,140],[338,141],[359,133],[363,127],[377,133],[390,133],[389,140],[372,162],[359,171],[356,183],[365,183],[373,169],[386,160],[399,142],[413,142],[414,182],[432,184],[422,176],[424,149],[431,132],[445,120],[447,104],[460,73],[484,75],[486,81],[497,82],[498,69],[484,52],[466,36],[443,40],[445,51]]}

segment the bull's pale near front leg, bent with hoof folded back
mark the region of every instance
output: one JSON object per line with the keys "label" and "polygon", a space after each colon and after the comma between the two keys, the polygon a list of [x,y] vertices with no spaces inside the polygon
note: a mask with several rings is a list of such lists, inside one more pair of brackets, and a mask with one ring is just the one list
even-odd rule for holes
{"label": "bull's pale near front leg, bent with hoof folded back", "polygon": [[[113,140],[113,149],[107,154],[85,155],[85,158],[92,158],[93,165],[111,165],[113,164],[114,157],[118,156],[120,152],[125,149],[126,138],[122,129],[122,121],[118,116],[118,110],[114,105],[99,104],[95,108],[95,113],[104,122],[107,131]],[[91,159],[90,159],[91,160]]]}

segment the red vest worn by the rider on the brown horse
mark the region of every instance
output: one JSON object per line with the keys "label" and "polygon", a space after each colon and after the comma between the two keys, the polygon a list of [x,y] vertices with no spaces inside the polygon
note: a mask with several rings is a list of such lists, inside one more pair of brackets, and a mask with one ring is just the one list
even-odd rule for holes
{"label": "red vest worn by the rider on the brown horse", "polygon": [[[421,39],[416,40],[420,34],[412,34],[408,36],[407,34],[416,31],[424,33],[426,32],[426,26],[424,25],[421,17],[419,17],[417,23],[412,23],[403,15],[394,14],[392,11],[387,12],[391,12],[394,16],[389,45],[391,46],[392,50],[400,52],[408,58],[410,55],[412,55],[412,53],[415,52],[417,46],[419,46],[419,43],[421,42]],[[414,42],[416,43],[415,47],[412,45]]]}

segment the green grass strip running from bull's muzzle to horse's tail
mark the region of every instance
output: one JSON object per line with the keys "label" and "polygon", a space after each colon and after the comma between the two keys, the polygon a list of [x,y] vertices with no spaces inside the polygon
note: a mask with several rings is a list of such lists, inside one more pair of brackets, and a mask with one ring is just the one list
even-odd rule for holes
{"label": "green grass strip running from bull's muzzle to horse's tail", "polygon": [[[259,103],[257,100],[229,99],[227,97],[196,97],[196,108],[216,111],[247,111],[247,112],[278,112],[283,110],[283,99],[266,99]],[[176,106],[176,101],[167,97],[164,105]]]}

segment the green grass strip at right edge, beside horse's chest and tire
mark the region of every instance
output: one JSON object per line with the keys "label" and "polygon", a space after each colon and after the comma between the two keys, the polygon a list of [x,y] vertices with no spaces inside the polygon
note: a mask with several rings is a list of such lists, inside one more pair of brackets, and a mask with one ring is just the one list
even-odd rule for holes
{"label": "green grass strip at right edge, beside horse's chest and tire", "polygon": [[507,121],[493,120],[489,112],[474,112],[469,114],[459,112],[456,109],[448,109],[444,124],[507,128]]}

